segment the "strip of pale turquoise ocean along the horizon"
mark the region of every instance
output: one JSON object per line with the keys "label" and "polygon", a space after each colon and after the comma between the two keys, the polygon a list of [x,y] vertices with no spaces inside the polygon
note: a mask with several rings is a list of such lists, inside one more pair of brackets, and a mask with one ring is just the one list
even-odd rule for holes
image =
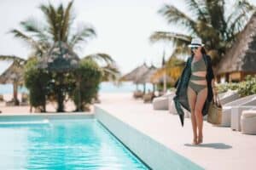
{"label": "strip of pale turquoise ocean along the horizon", "polygon": [[[143,90],[143,85],[139,85],[138,89]],[[102,82],[100,85],[100,93],[131,93],[136,90],[136,85],[133,82],[121,82],[119,85],[114,85],[113,82]],[[146,84],[146,92],[148,90],[153,91],[153,85],[150,83]],[[18,89],[19,93],[27,93],[25,87]],[[0,94],[13,94],[13,85],[12,84],[1,84],[0,85]]]}

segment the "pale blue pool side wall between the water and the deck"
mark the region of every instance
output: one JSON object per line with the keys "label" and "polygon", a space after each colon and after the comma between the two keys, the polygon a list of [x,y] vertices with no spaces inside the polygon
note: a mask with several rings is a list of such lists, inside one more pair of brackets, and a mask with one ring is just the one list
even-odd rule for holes
{"label": "pale blue pool side wall between the water and the deck", "polygon": [[99,122],[102,122],[116,138],[151,169],[203,169],[195,162],[131,127],[131,125],[103,110],[98,105],[95,106],[95,116]]}

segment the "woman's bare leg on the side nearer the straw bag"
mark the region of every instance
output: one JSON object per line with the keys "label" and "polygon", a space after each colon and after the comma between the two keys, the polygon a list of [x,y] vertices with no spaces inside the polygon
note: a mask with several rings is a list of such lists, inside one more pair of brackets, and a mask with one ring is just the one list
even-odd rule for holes
{"label": "woman's bare leg on the side nearer the straw bag", "polygon": [[195,103],[195,120],[198,127],[198,144],[202,143],[202,128],[203,128],[203,116],[202,109],[207,99],[207,88],[202,89],[199,94],[197,94],[196,103]]}

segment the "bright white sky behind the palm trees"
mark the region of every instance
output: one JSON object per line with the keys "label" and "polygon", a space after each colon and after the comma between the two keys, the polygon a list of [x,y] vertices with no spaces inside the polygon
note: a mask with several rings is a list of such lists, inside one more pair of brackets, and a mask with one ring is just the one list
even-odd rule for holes
{"label": "bright white sky behind the palm trees", "polygon": [[[22,3],[21,3],[22,2]],[[38,8],[40,4],[53,3],[55,6],[69,0],[0,0],[0,54],[17,55],[24,59],[31,53],[25,42],[13,37],[11,29],[19,28],[20,21],[34,18],[43,20]],[[232,3],[232,0],[228,0]],[[256,4],[256,0],[251,0]],[[160,66],[163,51],[166,58],[172,54],[172,45],[151,43],[149,37],[154,31],[176,31],[184,33],[177,26],[167,24],[157,11],[164,4],[174,4],[188,12],[184,1],[177,0],[74,0],[73,11],[75,30],[82,23],[93,26],[97,37],[82,44],[75,52],[79,57],[88,54],[109,54],[125,74],[138,65]],[[0,73],[9,63],[0,61]]]}

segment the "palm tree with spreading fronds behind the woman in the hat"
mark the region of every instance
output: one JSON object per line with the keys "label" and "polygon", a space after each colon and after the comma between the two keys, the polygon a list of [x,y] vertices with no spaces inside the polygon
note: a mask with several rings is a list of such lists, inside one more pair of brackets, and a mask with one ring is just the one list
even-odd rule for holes
{"label": "palm tree with spreading fronds behind the woman in the hat", "polygon": [[189,5],[189,14],[183,13],[173,5],[165,4],[158,11],[169,24],[181,26],[188,34],[155,31],[151,42],[171,41],[175,46],[172,56],[189,54],[187,45],[192,37],[201,37],[212,56],[213,65],[224,56],[236,40],[236,35],[244,28],[255,7],[247,0],[236,1],[232,13],[227,14],[224,0],[184,0]]}

